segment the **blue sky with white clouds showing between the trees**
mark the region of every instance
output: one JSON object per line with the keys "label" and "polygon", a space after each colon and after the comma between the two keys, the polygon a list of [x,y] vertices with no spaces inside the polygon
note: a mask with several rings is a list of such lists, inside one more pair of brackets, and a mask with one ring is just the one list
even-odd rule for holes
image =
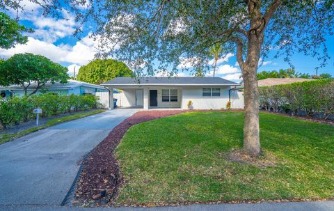
{"label": "blue sky with white clouds showing between the trees", "polygon": [[[30,1],[22,1],[27,10],[20,14],[21,23],[35,30],[29,33],[29,42],[26,45],[17,45],[13,49],[0,49],[0,57],[8,58],[13,54],[31,52],[40,54],[50,58],[52,61],[61,63],[68,67],[69,75],[73,74],[74,67],[78,72],[81,65],[86,65],[94,58],[97,52],[97,42],[89,38],[91,27],[89,23],[84,27],[84,33],[81,40],[74,38],[72,34],[77,27],[74,17],[70,14],[63,13],[66,19],[55,19],[51,17],[43,17],[40,13],[40,7]],[[7,12],[8,15],[15,17],[14,11]],[[327,40],[328,54],[331,59],[325,68],[320,68],[318,74],[330,73],[334,75],[334,37],[328,36]],[[279,70],[289,68],[289,65],[283,58],[273,58],[275,50],[269,54],[269,57],[263,61],[259,71],[262,70]],[[292,57],[296,71],[315,75],[315,68],[319,66],[317,58],[312,56],[304,56],[303,54],[295,54]],[[218,62],[217,75],[225,79],[234,81],[239,80],[240,70],[236,63],[236,56],[228,54],[225,58],[221,58]],[[187,65],[186,63],[184,64]],[[189,75],[188,72],[182,72],[179,76]]]}

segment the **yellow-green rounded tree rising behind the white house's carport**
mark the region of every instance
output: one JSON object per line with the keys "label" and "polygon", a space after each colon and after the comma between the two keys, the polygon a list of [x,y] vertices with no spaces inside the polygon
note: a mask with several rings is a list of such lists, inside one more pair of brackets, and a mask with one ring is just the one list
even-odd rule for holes
{"label": "yellow-green rounded tree rising behind the white house's carport", "polygon": [[109,59],[96,59],[79,69],[77,79],[91,84],[102,84],[116,77],[132,77],[134,72],[125,63]]}

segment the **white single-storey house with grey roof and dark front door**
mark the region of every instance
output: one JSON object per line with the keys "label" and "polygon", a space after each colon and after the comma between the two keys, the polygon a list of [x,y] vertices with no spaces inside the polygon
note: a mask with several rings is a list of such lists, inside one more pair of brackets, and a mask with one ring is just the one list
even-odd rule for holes
{"label": "white single-storey house with grey roof and dark front door", "polygon": [[[102,86],[117,88],[122,93],[117,95],[118,106],[150,108],[180,108],[188,109],[189,100],[193,109],[226,108],[230,90],[239,84],[220,77],[118,77],[107,81]],[[233,95],[244,108],[244,97]],[[110,95],[113,102],[114,95]],[[111,104],[110,109],[113,109]]]}

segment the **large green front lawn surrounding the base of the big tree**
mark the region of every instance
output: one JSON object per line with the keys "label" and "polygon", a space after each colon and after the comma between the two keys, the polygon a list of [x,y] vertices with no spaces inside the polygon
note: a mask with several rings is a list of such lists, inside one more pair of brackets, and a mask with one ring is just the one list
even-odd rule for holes
{"label": "large green front lawn surrounding the base of the big tree", "polygon": [[118,203],[175,203],[334,196],[334,127],[260,114],[275,166],[232,162],[243,112],[189,112],[134,125],[116,149],[125,178]]}

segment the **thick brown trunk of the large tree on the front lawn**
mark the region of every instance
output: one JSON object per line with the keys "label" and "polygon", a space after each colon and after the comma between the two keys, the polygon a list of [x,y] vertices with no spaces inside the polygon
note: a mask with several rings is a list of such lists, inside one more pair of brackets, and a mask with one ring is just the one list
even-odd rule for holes
{"label": "thick brown trunk of the large tree on the front lawn", "polygon": [[260,59],[261,42],[253,34],[248,40],[247,59],[244,64],[244,151],[247,155],[261,155],[259,125],[259,92],[257,89],[257,67]]}

